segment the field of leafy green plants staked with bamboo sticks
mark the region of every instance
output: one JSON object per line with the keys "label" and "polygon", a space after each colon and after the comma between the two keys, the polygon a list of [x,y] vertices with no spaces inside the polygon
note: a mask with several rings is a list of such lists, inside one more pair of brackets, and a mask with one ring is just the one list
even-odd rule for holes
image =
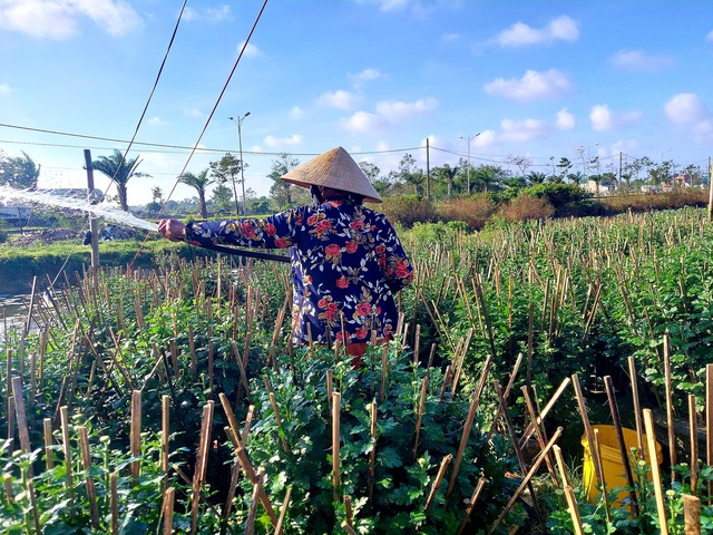
{"label": "field of leafy green plants staked with bamboo sticks", "polygon": [[[713,533],[704,211],[401,236],[417,276],[360,369],[292,347],[283,264],[182,244],[38,291],[3,342],[1,529]],[[600,425],[636,431],[622,488]]]}

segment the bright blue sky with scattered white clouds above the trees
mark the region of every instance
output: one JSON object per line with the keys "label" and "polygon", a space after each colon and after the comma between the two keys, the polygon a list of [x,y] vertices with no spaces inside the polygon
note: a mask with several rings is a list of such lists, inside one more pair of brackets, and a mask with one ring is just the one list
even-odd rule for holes
{"label": "bright blue sky with scattered white clouds above the trees", "polygon": [[182,7],[0,0],[0,150],[41,165],[40,187],[85,187],[85,149],[97,159],[134,138],[128,157],[150,175],[129,182],[134,205],[154,187],[195,196],[177,177],[241,142],[257,195],[280,154],[336,146],[384,176],[407,154],[424,171],[470,157],[515,173],[512,157],[547,173],[563,157],[616,171],[643,156],[706,169],[713,156],[707,0]]}

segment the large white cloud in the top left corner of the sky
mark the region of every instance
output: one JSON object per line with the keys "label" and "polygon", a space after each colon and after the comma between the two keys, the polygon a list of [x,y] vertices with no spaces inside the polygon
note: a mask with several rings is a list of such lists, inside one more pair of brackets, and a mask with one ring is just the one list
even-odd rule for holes
{"label": "large white cloud in the top left corner of the sky", "polygon": [[2,0],[0,29],[37,39],[68,39],[77,33],[81,18],[89,18],[114,36],[141,26],[141,19],[123,0]]}

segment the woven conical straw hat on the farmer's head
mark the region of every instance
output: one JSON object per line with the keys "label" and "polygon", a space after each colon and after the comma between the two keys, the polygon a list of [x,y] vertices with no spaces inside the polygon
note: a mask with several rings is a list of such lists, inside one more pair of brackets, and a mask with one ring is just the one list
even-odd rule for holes
{"label": "woven conical straw hat on the farmer's head", "polygon": [[303,187],[315,185],[355,193],[363,195],[368,203],[381,203],[379,192],[342,147],[333,148],[310,159],[285,173],[281,178]]}

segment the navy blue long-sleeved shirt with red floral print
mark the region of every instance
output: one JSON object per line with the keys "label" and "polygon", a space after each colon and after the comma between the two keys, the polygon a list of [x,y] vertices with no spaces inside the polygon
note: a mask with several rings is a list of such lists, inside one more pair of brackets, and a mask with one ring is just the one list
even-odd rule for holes
{"label": "navy blue long-sleeved shirt with red floral print", "polygon": [[345,201],[264,220],[193,223],[186,239],[196,245],[290,247],[293,335],[303,342],[367,342],[372,330],[378,339],[389,337],[398,322],[393,294],[413,279],[387,216]]}

